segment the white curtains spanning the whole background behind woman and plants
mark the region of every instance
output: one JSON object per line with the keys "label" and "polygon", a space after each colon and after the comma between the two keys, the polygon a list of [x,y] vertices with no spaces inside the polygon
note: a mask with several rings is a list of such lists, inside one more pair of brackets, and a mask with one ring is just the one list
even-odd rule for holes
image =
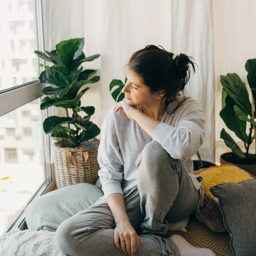
{"label": "white curtains spanning the whole background behind woman and plants", "polygon": [[85,55],[101,54],[85,65],[98,69],[101,78],[82,99],[84,106],[96,108],[92,121],[99,126],[114,104],[109,84],[112,79],[124,81],[123,66],[133,52],[155,44],[192,56],[198,68],[187,92],[201,105],[206,119],[206,136],[199,151],[203,160],[219,161],[215,145],[223,146],[218,144],[219,132],[225,127],[219,118],[219,76],[228,72],[245,76],[245,60],[256,55],[252,20],[256,1],[51,0],[49,4],[46,50],[54,49],[61,40],[84,37]]}

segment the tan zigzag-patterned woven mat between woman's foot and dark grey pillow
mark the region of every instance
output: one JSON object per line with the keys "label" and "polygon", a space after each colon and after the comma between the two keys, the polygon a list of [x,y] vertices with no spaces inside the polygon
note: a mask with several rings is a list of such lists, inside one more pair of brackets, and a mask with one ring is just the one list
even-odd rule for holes
{"label": "tan zigzag-patterned woven mat between woman's foot and dark grey pillow", "polygon": [[218,233],[210,230],[207,226],[199,222],[194,214],[191,215],[187,232],[172,231],[166,234],[165,237],[173,234],[181,235],[194,246],[211,249],[216,256],[233,255],[230,248],[229,233]]}

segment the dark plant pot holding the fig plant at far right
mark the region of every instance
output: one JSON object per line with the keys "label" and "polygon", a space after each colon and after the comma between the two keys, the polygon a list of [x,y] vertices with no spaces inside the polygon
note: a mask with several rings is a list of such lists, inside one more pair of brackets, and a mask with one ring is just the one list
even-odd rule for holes
{"label": "dark plant pot holding the fig plant at far right", "polygon": [[228,152],[224,153],[220,156],[221,164],[232,164],[235,165],[247,172],[250,172],[254,176],[256,176],[256,161],[251,160],[250,162],[245,159],[238,158],[234,153]]}

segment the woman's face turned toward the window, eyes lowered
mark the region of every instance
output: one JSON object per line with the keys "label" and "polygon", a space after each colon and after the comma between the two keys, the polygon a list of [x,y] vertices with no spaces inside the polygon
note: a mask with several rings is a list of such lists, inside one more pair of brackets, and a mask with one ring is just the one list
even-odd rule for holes
{"label": "woman's face turned toward the window, eyes lowered", "polygon": [[153,95],[149,87],[141,82],[143,79],[139,75],[133,71],[128,71],[126,79],[127,81],[122,92],[125,94],[125,102],[127,104],[131,106],[150,106],[159,101],[159,97]]}

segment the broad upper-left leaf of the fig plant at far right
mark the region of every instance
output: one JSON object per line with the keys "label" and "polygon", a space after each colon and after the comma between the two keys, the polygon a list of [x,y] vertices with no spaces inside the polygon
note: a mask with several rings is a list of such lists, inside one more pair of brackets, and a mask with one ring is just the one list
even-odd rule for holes
{"label": "broad upper-left leaf of the fig plant at far right", "polygon": [[249,94],[245,83],[236,74],[227,74],[226,76],[220,76],[220,81],[227,92],[240,108],[247,111],[248,115],[252,116],[252,107],[249,100]]}

